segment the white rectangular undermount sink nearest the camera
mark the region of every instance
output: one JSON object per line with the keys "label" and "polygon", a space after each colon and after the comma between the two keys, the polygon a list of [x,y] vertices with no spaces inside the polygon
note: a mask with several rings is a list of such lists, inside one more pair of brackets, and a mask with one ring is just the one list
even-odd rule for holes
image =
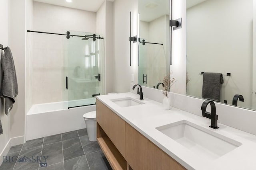
{"label": "white rectangular undermount sink nearest the camera", "polygon": [[217,159],[242,145],[186,120],[156,127],[156,129],[208,160]]}

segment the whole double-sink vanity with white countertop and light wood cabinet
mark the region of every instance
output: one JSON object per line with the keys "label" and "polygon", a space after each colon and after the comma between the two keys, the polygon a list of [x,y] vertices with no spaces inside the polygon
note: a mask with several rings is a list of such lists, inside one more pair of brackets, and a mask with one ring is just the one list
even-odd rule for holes
{"label": "whole double-sink vanity with white countertop and light wood cabinet", "polygon": [[[97,96],[97,140],[116,170],[256,167],[256,136],[139,95]],[[199,108],[200,109],[200,108]]]}

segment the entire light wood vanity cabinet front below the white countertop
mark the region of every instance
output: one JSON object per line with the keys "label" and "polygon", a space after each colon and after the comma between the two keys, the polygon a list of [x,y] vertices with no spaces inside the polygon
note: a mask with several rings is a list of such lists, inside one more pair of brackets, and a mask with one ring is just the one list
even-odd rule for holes
{"label": "entire light wood vanity cabinet front below the white countertop", "polygon": [[97,141],[113,170],[185,170],[97,100]]}

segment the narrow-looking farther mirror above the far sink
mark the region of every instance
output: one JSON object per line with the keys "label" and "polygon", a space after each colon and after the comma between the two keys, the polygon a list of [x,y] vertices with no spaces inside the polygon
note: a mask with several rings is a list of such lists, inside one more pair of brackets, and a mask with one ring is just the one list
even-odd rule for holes
{"label": "narrow-looking farther mirror above the far sink", "polygon": [[170,69],[169,0],[138,0],[138,6],[138,84],[157,88]]}

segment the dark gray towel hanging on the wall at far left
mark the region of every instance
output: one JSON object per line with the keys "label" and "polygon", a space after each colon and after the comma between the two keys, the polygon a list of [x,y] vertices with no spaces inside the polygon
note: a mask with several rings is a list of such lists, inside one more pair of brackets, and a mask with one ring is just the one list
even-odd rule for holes
{"label": "dark gray towel hanging on the wall at far left", "polygon": [[5,114],[8,115],[15,103],[15,97],[18,95],[18,83],[16,70],[12,58],[11,49],[6,47],[5,53],[1,59],[2,81],[0,88],[0,97],[5,98]]}

